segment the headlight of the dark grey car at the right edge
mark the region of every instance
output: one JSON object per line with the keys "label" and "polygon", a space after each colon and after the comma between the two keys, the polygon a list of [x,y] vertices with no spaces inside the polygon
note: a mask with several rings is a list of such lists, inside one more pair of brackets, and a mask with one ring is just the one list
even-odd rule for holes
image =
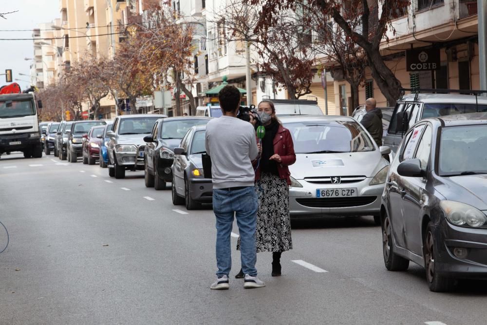
{"label": "headlight of the dark grey car at the right edge", "polygon": [[484,212],[465,203],[442,200],[440,208],[448,222],[455,226],[480,228],[487,223]]}

